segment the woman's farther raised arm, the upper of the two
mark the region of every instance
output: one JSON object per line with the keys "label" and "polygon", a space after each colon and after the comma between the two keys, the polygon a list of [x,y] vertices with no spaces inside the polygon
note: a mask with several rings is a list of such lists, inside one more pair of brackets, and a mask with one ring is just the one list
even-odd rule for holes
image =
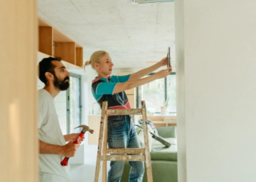
{"label": "woman's farther raised arm, the upper of the two", "polygon": [[154,64],[153,66],[142,69],[134,74],[131,74],[131,76],[129,76],[129,80],[140,79],[143,76],[151,74],[153,71],[157,70],[161,66],[166,66],[166,65],[167,65],[167,58],[163,58],[162,60],[160,60],[158,63]]}

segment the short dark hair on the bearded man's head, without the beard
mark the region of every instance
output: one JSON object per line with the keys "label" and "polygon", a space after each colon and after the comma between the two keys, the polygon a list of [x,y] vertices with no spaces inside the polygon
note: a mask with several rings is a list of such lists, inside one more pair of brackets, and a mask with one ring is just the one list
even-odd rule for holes
{"label": "short dark hair on the bearded man's head, without the beard", "polygon": [[46,72],[50,72],[51,74],[53,74],[55,76],[55,72],[54,72],[54,68],[55,66],[53,65],[53,63],[51,63],[53,60],[59,60],[61,61],[61,58],[53,58],[53,57],[49,57],[49,58],[43,58],[38,65],[38,71],[39,71],[39,79],[45,83],[45,85],[47,85],[47,79],[45,77],[45,73]]}

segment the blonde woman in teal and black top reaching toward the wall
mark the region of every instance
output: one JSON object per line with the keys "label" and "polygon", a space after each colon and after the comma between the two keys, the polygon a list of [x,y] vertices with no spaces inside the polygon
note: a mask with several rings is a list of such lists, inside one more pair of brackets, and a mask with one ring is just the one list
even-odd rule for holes
{"label": "blonde woman in teal and black top reaching toward the wall", "polygon": [[[154,66],[142,69],[135,74],[125,76],[110,76],[112,74],[113,62],[108,52],[99,50],[91,55],[85,66],[91,65],[98,76],[92,81],[91,92],[102,108],[102,102],[108,101],[108,109],[131,108],[129,100],[124,90],[129,90],[140,85],[161,79],[169,75],[171,66],[156,74],[142,78],[155,71],[161,66],[167,65],[167,58],[163,58]],[[108,116],[108,147],[109,148],[140,148],[140,142],[130,116]],[[129,162],[131,170],[129,181],[141,182],[143,180],[143,162]],[[124,170],[123,161],[111,161],[108,172],[108,182],[118,182]]]}

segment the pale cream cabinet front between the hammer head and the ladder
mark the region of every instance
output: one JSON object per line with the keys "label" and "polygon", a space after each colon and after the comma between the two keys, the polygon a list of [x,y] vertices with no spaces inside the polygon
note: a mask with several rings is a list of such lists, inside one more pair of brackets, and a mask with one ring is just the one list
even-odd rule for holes
{"label": "pale cream cabinet front between the hammer head and the ladder", "polygon": [[99,127],[100,127],[100,115],[99,116],[88,116],[88,125],[94,133],[89,133],[88,144],[97,145],[99,142]]}

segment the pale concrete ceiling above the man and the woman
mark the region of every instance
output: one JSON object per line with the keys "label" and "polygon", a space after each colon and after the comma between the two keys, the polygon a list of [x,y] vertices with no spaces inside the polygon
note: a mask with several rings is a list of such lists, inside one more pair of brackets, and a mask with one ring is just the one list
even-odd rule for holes
{"label": "pale concrete ceiling above the man and the woman", "polygon": [[38,15],[83,46],[83,61],[109,52],[114,68],[146,68],[167,55],[175,67],[174,3],[38,0]]}

